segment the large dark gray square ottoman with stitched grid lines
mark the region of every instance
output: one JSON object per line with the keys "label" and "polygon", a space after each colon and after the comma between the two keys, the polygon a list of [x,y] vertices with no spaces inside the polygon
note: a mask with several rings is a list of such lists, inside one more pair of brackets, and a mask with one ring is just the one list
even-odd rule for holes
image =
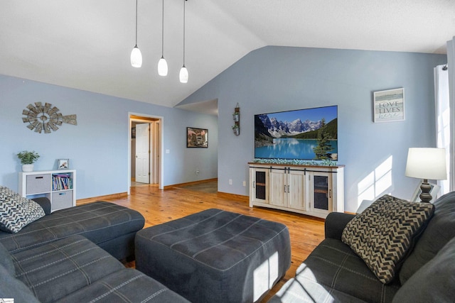
{"label": "large dark gray square ottoman with stitched grid lines", "polygon": [[208,209],[137,232],[136,268],[191,302],[257,302],[291,265],[287,226]]}

